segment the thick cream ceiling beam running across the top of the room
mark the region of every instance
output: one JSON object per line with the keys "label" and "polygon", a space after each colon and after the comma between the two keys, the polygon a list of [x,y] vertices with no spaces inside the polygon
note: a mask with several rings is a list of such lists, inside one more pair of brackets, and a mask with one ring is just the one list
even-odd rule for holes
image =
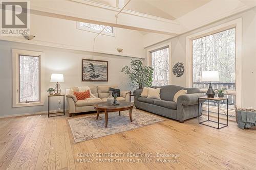
{"label": "thick cream ceiling beam running across the top of the room", "polygon": [[31,1],[30,12],[36,15],[89,22],[123,29],[178,35],[181,26],[173,20],[102,6],[85,0]]}

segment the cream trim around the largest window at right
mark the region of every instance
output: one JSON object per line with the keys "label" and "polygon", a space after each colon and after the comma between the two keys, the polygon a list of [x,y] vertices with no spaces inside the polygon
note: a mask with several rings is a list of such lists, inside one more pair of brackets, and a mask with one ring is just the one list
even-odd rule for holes
{"label": "cream trim around the largest window at right", "polygon": [[[242,18],[234,19],[221,25],[206,29],[186,37],[186,86],[193,84],[193,44],[194,39],[236,28],[236,105],[242,107]],[[231,93],[230,93],[231,94]]]}

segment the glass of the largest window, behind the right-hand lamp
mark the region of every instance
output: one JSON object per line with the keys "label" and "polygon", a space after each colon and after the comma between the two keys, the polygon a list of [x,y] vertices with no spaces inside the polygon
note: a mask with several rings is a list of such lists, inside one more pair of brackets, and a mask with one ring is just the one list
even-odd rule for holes
{"label": "glass of the largest window, behind the right-hand lamp", "polygon": [[219,82],[212,82],[212,88],[228,90],[229,104],[236,104],[236,28],[224,30],[192,41],[193,44],[193,86],[208,88],[208,82],[201,82],[202,71],[218,70]]}

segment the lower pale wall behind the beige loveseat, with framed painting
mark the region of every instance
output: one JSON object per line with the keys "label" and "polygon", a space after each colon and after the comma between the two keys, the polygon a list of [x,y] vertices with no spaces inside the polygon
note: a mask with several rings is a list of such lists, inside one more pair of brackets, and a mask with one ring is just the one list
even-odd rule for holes
{"label": "lower pale wall behind the beige loveseat, with framed painting", "polygon": [[[55,87],[55,83],[50,82],[52,73],[61,73],[64,75],[65,82],[60,83],[64,93],[65,89],[71,86],[100,84],[117,84],[121,90],[132,90],[128,84],[129,80],[120,72],[123,66],[130,64],[131,57],[64,50],[61,48],[0,40],[0,94],[2,96],[0,98],[0,117],[47,111],[46,98],[44,106],[12,108],[12,48],[45,52],[45,90],[49,87]],[[109,61],[109,81],[81,82],[82,58]],[[47,92],[45,92],[45,94],[47,94]],[[56,105],[56,102],[53,102],[53,106],[56,107]]]}

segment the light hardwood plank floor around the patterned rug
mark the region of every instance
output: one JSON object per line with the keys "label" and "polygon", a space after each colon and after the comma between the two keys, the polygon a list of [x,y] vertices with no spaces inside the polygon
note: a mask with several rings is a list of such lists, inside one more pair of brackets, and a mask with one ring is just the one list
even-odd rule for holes
{"label": "light hardwood plank floor around the patterned rug", "polygon": [[[74,115],[71,118],[86,116]],[[162,123],[81,143],[74,143],[68,116],[46,115],[0,119],[0,169],[255,169],[256,130],[234,122],[221,130],[190,119]],[[95,113],[96,118],[96,113]],[[93,157],[78,154],[91,153]],[[114,153],[114,157],[97,157]],[[135,154],[142,153],[141,157]],[[125,157],[121,157],[126,154]],[[156,157],[178,154],[178,157]],[[166,156],[166,155],[165,155]],[[84,161],[93,161],[87,162]],[[120,163],[96,163],[96,161]],[[138,161],[129,163],[128,160]],[[178,163],[157,163],[157,161]],[[79,163],[79,162],[84,163]],[[147,161],[147,162],[145,162]]]}

